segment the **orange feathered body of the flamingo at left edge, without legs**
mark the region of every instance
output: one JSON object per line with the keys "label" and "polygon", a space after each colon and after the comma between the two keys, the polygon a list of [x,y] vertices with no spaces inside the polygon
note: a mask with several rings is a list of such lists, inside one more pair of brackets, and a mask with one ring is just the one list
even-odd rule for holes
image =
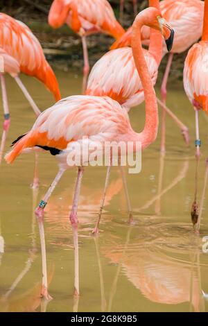
{"label": "orange feathered body of the flamingo at left edge, without legs", "polygon": [[[0,48],[6,58],[6,72],[17,76],[19,64],[22,73],[40,80],[54,94],[55,100],[60,100],[58,82],[46,61],[40,42],[28,26],[3,13],[0,13]],[[11,64],[14,70],[11,69]]]}

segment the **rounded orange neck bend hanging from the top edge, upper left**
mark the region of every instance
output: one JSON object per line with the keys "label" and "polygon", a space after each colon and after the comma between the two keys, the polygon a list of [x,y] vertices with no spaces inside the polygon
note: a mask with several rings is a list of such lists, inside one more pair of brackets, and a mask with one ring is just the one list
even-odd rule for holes
{"label": "rounded orange neck bend hanging from the top edge, upper left", "polygon": [[53,28],[61,27],[69,15],[71,0],[54,0],[49,11],[49,25]]}

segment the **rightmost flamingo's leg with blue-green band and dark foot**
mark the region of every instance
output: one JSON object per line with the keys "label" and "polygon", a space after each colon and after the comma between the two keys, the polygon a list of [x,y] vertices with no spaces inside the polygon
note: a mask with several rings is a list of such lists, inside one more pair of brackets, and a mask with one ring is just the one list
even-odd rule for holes
{"label": "rightmost flamingo's leg with blue-green band and dark foot", "polygon": [[199,124],[198,124],[198,110],[195,108],[195,120],[196,120],[196,172],[195,172],[195,194],[194,200],[191,207],[191,220],[193,225],[198,223],[198,203],[197,203],[197,196],[198,196],[198,169],[200,164],[200,134],[199,134]]}

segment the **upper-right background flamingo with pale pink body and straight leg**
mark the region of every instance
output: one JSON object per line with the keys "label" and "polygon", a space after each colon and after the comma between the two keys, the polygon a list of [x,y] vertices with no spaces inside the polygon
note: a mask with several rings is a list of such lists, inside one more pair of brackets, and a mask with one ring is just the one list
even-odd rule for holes
{"label": "upper-right background flamingo with pale pink body and straight leg", "polygon": [[[202,35],[204,4],[204,1],[201,0],[163,0],[159,3],[163,17],[171,24],[175,31],[173,49],[169,54],[166,71],[162,80],[161,95],[164,105],[166,104],[166,86],[173,61],[173,55],[174,53],[187,51],[192,44],[200,39]],[[111,49],[118,49],[119,47],[130,45],[131,33],[132,27],[128,29],[120,40],[117,40],[112,44]],[[143,44],[149,44],[150,29],[146,26],[144,26],[141,33],[141,40]],[[163,53],[164,55],[166,54],[165,46]],[[161,140],[162,152],[165,151],[165,131],[165,110],[163,109]]]}

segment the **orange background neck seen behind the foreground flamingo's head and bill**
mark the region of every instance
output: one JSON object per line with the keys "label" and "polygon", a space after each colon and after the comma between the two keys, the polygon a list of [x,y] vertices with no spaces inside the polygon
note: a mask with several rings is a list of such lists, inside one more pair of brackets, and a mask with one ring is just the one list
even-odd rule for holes
{"label": "orange background neck seen behind the foreground flamingo's head and bill", "polygon": [[[149,6],[159,10],[159,0],[149,0]],[[162,60],[162,34],[153,28],[150,28],[149,53],[153,55],[159,67]]]}

